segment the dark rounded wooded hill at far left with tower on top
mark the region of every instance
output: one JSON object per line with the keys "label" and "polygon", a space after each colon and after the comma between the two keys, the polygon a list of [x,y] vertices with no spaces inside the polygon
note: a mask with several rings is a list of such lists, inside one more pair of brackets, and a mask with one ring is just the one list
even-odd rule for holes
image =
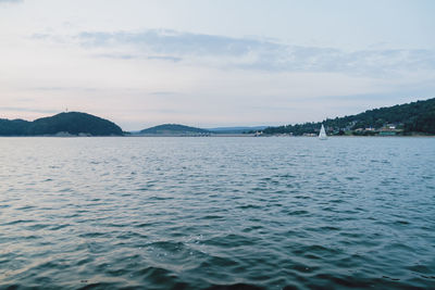
{"label": "dark rounded wooded hill at far left with tower on top", "polygon": [[90,114],[70,112],[34,122],[0,119],[0,136],[45,135],[121,136],[122,129],[114,123]]}

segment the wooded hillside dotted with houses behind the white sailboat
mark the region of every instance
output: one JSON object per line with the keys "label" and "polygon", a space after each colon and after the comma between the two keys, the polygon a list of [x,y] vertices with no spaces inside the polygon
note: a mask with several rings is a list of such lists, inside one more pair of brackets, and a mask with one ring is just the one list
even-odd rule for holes
{"label": "wooded hillside dotted with houses behind the white sailboat", "polygon": [[306,123],[269,127],[264,134],[318,134],[324,124],[332,135],[411,135],[435,134],[435,98],[425,101],[369,110],[358,115],[327,118]]}

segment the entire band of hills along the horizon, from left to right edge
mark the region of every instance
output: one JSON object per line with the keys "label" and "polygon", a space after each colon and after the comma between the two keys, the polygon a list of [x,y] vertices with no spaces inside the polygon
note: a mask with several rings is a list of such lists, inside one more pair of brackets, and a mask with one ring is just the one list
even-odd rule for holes
{"label": "entire band of hills along the horizon, from left to right edge", "polygon": [[[321,125],[328,135],[435,135],[435,98],[362,113],[275,127],[197,128],[181,124],[162,124],[135,133],[124,133],[115,123],[82,112],[64,112],[33,122],[0,118],[0,136],[209,136],[224,134],[315,135]],[[250,130],[249,130],[250,129]]]}

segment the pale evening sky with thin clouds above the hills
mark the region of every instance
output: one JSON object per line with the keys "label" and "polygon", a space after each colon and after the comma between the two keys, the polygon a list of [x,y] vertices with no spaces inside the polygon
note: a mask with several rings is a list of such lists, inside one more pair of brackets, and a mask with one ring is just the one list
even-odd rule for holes
{"label": "pale evening sky with thin clouds above the hills", "polygon": [[432,0],[0,0],[0,118],[319,122],[435,97]]}

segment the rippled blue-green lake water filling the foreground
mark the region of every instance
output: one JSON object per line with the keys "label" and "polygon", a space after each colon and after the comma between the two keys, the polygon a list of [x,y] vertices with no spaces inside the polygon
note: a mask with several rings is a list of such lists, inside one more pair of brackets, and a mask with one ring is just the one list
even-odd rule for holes
{"label": "rippled blue-green lake water filling the foreground", "polygon": [[0,138],[0,288],[435,289],[434,164],[435,138]]}

